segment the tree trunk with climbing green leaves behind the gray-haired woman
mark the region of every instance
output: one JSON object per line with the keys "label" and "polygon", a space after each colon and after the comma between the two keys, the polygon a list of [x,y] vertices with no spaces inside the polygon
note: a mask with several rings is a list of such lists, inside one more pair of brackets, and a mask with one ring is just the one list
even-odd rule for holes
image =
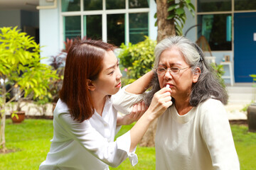
{"label": "tree trunk with climbing green leaves behind the gray-haired woman", "polygon": [[[182,35],[182,28],[186,22],[186,12],[184,8],[194,16],[195,7],[191,4],[191,0],[155,0],[156,1],[156,25],[157,42],[170,35]],[[149,126],[146,134],[142,138],[141,146],[154,147],[154,137],[156,134],[156,121]]]}

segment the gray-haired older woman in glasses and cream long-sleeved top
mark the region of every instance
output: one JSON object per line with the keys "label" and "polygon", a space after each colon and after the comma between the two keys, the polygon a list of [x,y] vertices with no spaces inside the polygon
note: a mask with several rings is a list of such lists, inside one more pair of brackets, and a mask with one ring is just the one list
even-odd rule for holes
{"label": "gray-haired older woman in glasses and cream long-sleeved top", "polygon": [[[151,91],[144,95],[149,104],[156,91],[171,88],[173,104],[159,117],[156,128],[156,169],[240,169],[223,106],[228,95],[201,49],[174,36],[156,45],[155,56],[154,71],[123,93],[142,97],[150,79]],[[121,108],[125,102],[120,98],[118,103]]]}

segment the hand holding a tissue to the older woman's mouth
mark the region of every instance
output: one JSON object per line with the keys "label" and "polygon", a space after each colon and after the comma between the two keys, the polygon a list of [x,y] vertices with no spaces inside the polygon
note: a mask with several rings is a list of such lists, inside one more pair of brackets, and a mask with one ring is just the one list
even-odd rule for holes
{"label": "hand holding a tissue to the older woman's mouth", "polygon": [[157,91],[156,94],[154,94],[146,114],[149,116],[149,118],[158,118],[171,105],[171,89],[164,87],[163,89]]}

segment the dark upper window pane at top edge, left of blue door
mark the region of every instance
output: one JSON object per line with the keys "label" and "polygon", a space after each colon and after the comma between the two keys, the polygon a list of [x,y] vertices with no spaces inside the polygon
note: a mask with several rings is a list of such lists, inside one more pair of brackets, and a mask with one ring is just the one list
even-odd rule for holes
{"label": "dark upper window pane at top edge, left of blue door", "polygon": [[198,0],[198,12],[231,11],[231,0]]}

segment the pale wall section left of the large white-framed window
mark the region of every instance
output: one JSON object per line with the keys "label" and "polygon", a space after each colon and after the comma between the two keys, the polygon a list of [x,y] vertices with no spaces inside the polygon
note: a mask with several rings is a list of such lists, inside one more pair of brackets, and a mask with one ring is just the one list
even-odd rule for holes
{"label": "pale wall section left of the large white-framed window", "polygon": [[[59,1],[58,1],[59,3]],[[45,0],[39,0],[40,6],[49,6]],[[59,6],[59,5],[58,5]],[[60,49],[60,12],[58,8],[39,10],[41,57],[58,55]],[[41,60],[48,64],[48,59]]]}

